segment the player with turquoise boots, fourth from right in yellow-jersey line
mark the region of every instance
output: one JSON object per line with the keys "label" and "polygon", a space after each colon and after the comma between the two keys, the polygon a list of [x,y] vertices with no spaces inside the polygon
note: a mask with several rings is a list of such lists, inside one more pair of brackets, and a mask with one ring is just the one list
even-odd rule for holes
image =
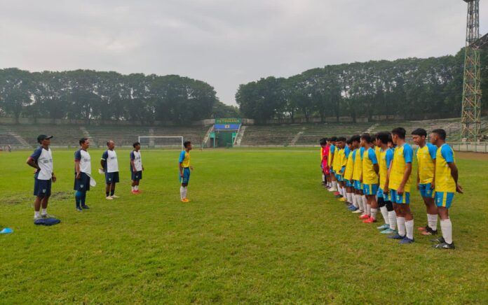
{"label": "player with turquoise boots, fourth from right in yellow-jersey line", "polygon": [[396,213],[393,210],[393,204],[390,201],[388,192],[384,192],[386,180],[388,178],[388,169],[393,160],[393,150],[388,147],[388,139],[391,138],[389,132],[379,132],[377,134],[377,143],[380,145],[379,155],[379,187],[378,187],[378,206],[385,220],[384,225],[377,227],[381,229],[381,234],[395,233],[396,230]]}

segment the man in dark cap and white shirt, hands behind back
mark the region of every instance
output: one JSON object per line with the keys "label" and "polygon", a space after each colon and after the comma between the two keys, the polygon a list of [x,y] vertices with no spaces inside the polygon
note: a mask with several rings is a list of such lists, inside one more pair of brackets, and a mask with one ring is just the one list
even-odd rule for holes
{"label": "man in dark cap and white shirt, hands behind back", "polygon": [[[48,214],[48,200],[51,194],[51,181],[56,182],[56,176],[53,173],[53,155],[51,154],[50,139],[53,136],[40,134],[37,137],[39,148],[34,150],[32,155],[27,159],[27,164],[34,167],[34,220],[39,218],[53,218]],[[41,213],[42,206],[42,213]]]}

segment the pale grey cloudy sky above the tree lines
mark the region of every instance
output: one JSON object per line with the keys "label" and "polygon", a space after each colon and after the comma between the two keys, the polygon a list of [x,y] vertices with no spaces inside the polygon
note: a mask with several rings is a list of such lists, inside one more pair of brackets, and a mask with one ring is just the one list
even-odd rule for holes
{"label": "pale grey cloudy sky above the tree lines", "polygon": [[[2,0],[0,68],[179,74],[235,104],[239,84],[266,76],[454,54],[466,8],[461,0]],[[483,1],[480,16],[485,34]]]}

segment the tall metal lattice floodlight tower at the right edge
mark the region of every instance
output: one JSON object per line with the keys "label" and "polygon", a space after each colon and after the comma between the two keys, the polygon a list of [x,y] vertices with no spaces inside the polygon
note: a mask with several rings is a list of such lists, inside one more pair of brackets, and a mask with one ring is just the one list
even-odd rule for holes
{"label": "tall metal lattice floodlight tower at the right edge", "polygon": [[468,3],[466,49],[464,55],[463,111],[461,113],[461,138],[475,142],[480,136],[481,76],[480,50],[473,47],[480,38],[480,0],[463,0]]}

